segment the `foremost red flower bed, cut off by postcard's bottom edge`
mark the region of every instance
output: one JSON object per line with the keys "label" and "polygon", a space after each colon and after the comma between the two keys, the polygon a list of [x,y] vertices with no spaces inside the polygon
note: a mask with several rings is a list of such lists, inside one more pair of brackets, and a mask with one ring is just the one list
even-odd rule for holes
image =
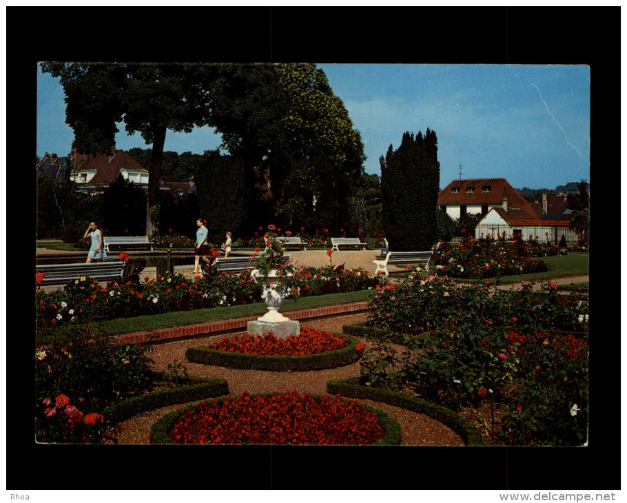
{"label": "foremost red flower bed, cut off by postcard's bottom edge", "polygon": [[371,444],[384,435],[356,400],[297,391],[203,402],[169,431],[176,444]]}

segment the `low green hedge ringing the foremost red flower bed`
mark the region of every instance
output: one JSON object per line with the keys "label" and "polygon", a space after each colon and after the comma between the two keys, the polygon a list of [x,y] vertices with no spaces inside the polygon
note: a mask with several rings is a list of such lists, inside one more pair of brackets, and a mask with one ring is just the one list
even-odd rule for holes
{"label": "low green hedge ringing the foremost red flower bed", "polygon": [[[272,396],[272,395],[282,394],[282,393],[259,393],[259,394],[261,396]],[[256,395],[250,395],[251,398],[254,396]],[[313,397],[316,401],[318,402],[320,401],[320,395],[313,395]],[[224,400],[225,400],[224,398],[218,398],[216,400],[205,400],[205,401],[207,401],[207,403],[209,404],[213,404],[215,402],[221,405],[224,402]],[[150,429],[150,443],[151,444],[174,444],[174,442],[172,442],[172,440],[167,435],[167,432],[170,429],[172,429],[172,427],[174,427],[174,424],[176,424],[176,422],[178,421],[178,418],[180,418],[181,415],[200,407],[200,405],[201,404],[188,405],[187,407],[183,407],[183,409],[180,409],[178,411],[170,412],[164,415],[163,418],[160,418],[159,420],[157,420],[152,425],[152,428]],[[383,411],[380,411],[379,409],[368,407],[367,405],[362,405],[362,407],[364,407],[364,409],[366,409],[369,412],[372,412],[374,415],[377,416],[379,424],[384,431],[384,435],[382,438],[380,438],[377,442],[374,442],[373,444],[369,444],[369,445],[399,445],[401,441],[401,432],[400,432],[400,425],[398,424],[398,422],[391,416],[387,415],[387,413],[384,413]]]}

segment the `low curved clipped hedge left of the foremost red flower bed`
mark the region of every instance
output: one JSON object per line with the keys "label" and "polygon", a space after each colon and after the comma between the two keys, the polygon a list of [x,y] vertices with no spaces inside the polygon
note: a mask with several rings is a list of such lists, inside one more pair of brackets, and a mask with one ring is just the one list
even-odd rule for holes
{"label": "low curved clipped hedge left of the foremost red flower bed", "polygon": [[[167,376],[167,374],[158,374],[158,379],[174,381],[174,378]],[[118,424],[142,412],[160,409],[168,405],[191,402],[192,400],[203,400],[229,394],[229,384],[225,379],[200,378],[196,376],[191,376],[187,379],[190,384],[126,398],[121,400],[121,402],[105,407],[102,414],[105,416],[105,420],[110,421],[112,424]]]}

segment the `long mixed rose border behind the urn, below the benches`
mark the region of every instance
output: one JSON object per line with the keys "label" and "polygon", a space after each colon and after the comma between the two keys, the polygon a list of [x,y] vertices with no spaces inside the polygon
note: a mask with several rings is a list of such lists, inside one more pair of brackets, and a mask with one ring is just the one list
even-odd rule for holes
{"label": "long mixed rose border behind the urn, below the benches", "polygon": [[[300,267],[294,269],[294,274],[288,298],[357,291],[378,283],[368,271],[359,268]],[[83,276],[65,285],[63,290],[38,289],[35,314],[39,332],[45,333],[50,327],[83,320],[250,304],[259,302],[261,291],[261,285],[255,283],[249,271],[193,279],[167,272],[154,280],[146,277],[112,281],[106,287],[94,278]]]}

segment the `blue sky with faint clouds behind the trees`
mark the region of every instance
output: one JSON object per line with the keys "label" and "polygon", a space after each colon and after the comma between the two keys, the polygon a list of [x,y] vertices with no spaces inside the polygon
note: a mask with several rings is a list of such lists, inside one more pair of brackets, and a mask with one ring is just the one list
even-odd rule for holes
{"label": "blue sky with faint clouds behind the trees", "polygon": [[[590,71],[585,65],[321,64],[361,134],[368,173],[405,131],[438,136],[440,187],[459,178],[502,177],[514,187],[590,181]],[[38,79],[37,155],[68,154],[63,89]],[[116,147],[146,148],[123,125]],[[220,144],[209,127],[167,132],[165,150],[202,154]]]}

